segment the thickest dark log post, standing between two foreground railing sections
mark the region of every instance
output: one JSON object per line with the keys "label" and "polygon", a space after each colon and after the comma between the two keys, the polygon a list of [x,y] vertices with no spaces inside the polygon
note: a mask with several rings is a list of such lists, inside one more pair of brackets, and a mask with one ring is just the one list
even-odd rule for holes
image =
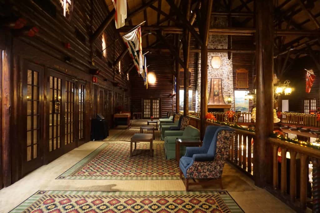
{"label": "thickest dark log post, standing between two foreground railing sections", "polygon": [[272,1],[256,2],[257,120],[254,143],[254,182],[264,187],[272,180],[272,150],[267,146],[273,132],[274,25]]}

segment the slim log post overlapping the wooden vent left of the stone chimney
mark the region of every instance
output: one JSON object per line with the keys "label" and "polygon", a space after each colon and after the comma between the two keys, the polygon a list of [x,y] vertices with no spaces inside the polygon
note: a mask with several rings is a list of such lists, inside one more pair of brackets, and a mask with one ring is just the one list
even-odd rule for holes
{"label": "slim log post overlapping the wooden vent left of the stone chimney", "polygon": [[[189,21],[190,17],[190,6],[191,0],[188,0],[186,5],[186,18]],[[191,34],[187,28],[184,29],[183,36],[183,60],[185,63],[186,69],[184,69],[183,74],[183,89],[184,89],[184,101],[183,101],[183,115],[188,115],[189,113],[189,55],[190,55],[190,37]]]}

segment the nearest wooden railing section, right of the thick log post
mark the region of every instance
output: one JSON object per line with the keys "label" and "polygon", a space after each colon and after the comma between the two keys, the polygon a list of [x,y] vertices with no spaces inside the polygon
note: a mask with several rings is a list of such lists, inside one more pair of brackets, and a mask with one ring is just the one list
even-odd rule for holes
{"label": "nearest wooden railing section, right of the thick log post", "polygon": [[[276,138],[269,138],[269,143],[273,150],[273,179],[268,191],[296,211],[305,211],[307,203],[312,201],[313,212],[319,212],[320,151]],[[308,181],[309,165],[312,165],[312,181]]]}

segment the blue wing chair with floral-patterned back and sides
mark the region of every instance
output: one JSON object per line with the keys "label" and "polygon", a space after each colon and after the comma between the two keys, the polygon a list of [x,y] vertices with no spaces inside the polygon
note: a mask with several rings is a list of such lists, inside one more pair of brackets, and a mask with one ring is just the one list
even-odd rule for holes
{"label": "blue wing chair with floral-patterned back and sides", "polygon": [[186,191],[191,185],[204,185],[205,182],[189,183],[188,179],[219,179],[221,189],[222,171],[230,151],[234,130],[228,126],[208,126],[205,130],[202,147],[187,147],[181,157],[180,179],[186,179]]}

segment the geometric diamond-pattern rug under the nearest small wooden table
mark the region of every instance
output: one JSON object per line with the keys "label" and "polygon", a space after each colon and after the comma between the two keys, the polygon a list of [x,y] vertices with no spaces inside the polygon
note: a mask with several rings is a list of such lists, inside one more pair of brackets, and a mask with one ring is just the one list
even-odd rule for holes
{"label": "geometric diamond-pattern rug under the nearest small wooden table", "polygon": [[163,143],[137,143],[130,157],[130,143],[104,143],[56,179],[173,180],[179,179],[174,159],[165,158]]}

